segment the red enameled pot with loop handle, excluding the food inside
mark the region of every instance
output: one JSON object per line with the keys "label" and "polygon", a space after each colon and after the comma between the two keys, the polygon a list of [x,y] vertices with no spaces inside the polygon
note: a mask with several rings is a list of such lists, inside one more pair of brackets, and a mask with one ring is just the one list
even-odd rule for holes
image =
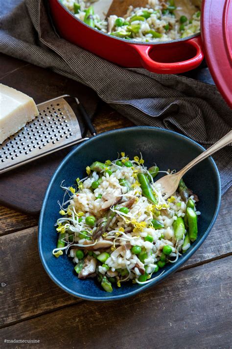
{"label": "red enameled pot with loop handle, excluding the food inside", "polygon": [[58,0],[49,3],[61,37],[123,67],[177,74],[196,68],[204,58],[200,33],[165,43],[130,42],[87,26]]}

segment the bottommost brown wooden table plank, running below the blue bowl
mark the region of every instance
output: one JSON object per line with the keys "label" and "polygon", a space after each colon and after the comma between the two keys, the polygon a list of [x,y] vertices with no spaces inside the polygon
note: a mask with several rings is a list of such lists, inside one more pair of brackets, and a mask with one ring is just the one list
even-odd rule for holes
{"label": "bottommost brown wooden table plank, running below the blue bowl", "polygon": [[1,329],[1,338],[61,349],[230,348],[231,259],[176,273],[129,299],[83,302],[17,323]]}

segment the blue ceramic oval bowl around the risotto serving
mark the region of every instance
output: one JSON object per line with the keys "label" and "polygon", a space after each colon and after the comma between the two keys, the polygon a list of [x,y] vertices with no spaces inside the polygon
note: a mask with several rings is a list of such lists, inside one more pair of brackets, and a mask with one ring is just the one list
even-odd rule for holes
{"label": "blue ceramic oval bowl around the risotto serving", "polygon": [[175,132],[154,127],[132,127],[99,134],[78,145],[61,162],[46,190],[41,210],[39,252],[50,278],[63,290],[77,297],[104,301],[119,299],[136,295],[161,282],[180,268],[199,248],[208,236],[218,214],[221,197],[220,178],[215,162],[212,158],[208,158],[196,165],[184,177],[188,188],[199,196],[200,202],[197,204],[197,209],[201,211],[201,216],[198,239],[191,244],[177,263],[166,265],[162,269],[164,273],[160,276],[158,271],[151,283],[144,286],[124,283],[120,288],[114,287],[112,293],[103,291],[94,279],[79,280],[74,272],[73,263],[67,255],[55,258],[51,253],[57,242],[57,233],[54,228],[54,223],[59,216],[57,201],[63,199],[60,184],[63,180],[67,186],[74,184],[77,177],[83,178],[86,175],[86,166],[93,161],[104,162],[107,159],[116,159],[117,152],[121,151],[132,158],[141,152],[147,166],[156,162],[160,169],[180,170],[202,153],[204,148]]}

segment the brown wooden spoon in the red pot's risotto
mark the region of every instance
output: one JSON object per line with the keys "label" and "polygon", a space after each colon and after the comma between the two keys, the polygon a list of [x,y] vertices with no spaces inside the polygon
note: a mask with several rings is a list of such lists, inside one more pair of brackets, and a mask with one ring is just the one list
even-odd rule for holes
{"label": "brown wooden spoon in the red pot's risotto", "polygon": [[136,8],[146,7],[147,4],[148,0],[113,0],[107,13],[107,17],[109,17],[110,15],[124,17],[130,5],[133,5],[133,7]]}

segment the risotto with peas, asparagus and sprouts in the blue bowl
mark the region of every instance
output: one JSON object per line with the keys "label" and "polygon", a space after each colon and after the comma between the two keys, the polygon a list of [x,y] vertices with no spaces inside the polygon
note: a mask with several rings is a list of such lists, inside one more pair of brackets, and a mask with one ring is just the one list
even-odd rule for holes
{"label": "risotto with peas, asparagus and sprouts in the blue bowl", "polygon": [[107,292],[126,281],[143,285],[197,239],[198,197],[181,180],[178,191],[164,200],[154,181],[170,170],[147,168],[141,155],[130,160],[122,152],[86,171],[74,186],[61,185],[65,195],[52,252],[56,257],[66,252],[79,279],[96,277]]}

